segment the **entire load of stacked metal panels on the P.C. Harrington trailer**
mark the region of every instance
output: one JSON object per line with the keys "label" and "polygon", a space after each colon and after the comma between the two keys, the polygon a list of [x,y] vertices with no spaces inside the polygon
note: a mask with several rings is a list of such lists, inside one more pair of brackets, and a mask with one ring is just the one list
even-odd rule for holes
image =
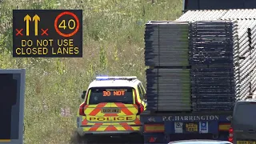
{"label": "entire load of stacked metal panels on the P.C. Harrington trailer", "polygon": [[235,101],[252,94],[255,14],[255,10],[189,10],[176,22],[148,22],[148,110],[232,110]]}

